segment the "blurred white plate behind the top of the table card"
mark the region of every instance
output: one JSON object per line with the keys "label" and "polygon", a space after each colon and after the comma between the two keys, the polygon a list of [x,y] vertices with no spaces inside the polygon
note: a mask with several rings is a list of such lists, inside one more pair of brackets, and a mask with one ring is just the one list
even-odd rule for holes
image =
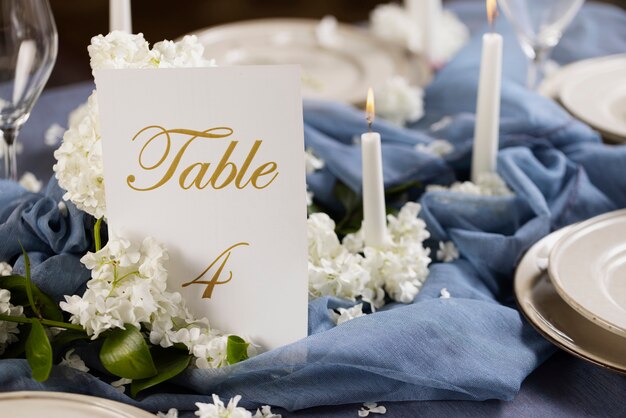
{"label": "blurred white plate behind the top of the table card", "polygon": [[347,24],[319,30],[319,20],[261,19],[194,32],[218,65],[300,64],[308,98],[363,103],[394,75],[420,84],[419,60],[368,31]]}

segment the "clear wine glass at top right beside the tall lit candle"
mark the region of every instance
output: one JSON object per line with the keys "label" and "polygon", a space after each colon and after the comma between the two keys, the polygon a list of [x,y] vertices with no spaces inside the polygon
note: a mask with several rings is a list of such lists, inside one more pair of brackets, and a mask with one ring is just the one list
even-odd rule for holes
{"label": "clear wine glass at top right beside the tall lit candle", "polygon": [[561,40],[563,31],[584,0],[500,0],[530,60],[528,87],[535,90],[543,77],[544,64]]}

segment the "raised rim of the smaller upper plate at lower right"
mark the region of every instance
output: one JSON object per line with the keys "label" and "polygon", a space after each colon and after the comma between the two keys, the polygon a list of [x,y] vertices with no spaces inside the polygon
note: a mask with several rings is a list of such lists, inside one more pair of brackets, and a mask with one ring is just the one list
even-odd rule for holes
{"label": "raised rim of the smaller upper plate at lower right", "polygon": [[576,227],[569,230],[561,239],[559,239],[550,251],[549,261],[548,261],[548,276],[550,277],[550,282],[556,289],[559,296],[572,308],[578,311],[582,316],[586,319],[597,323],[607,331],[611,331],[614,334],[617,334],[621,337],[626,337],[626,326],[622,327],[608,321],[604,318],[601,318],[598,314],[594,314],[585,306],[580,304],[578,301],[574,300],[571,295],[562,287],[562,283],[558,279],[558,274],[556,273],[556,263],[555,259],[559,255],[559,251],[563,251],[562,247],[567,244],[567,242],[572,239],[572,236],[579,233],[580,231],[588,228],[598,222],[604,222],[611,218],[615,217],[626,217],[626,209],[619,209],[611,212],[606,212],[601,215],[594,216],[593,218],[587,219],[585,221],[580,222]]}

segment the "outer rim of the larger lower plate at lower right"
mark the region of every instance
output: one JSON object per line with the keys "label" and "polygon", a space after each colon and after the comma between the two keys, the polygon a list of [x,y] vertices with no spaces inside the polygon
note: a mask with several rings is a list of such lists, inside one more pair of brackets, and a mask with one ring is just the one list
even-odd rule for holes
{"label": "outer rim of the larger lower plate at lower right", "polygon": [[[513,293],[515,295],[516,306],[518,308],[518,311],[531,324],[531,326],[535,329],[535,331],[537,331],[543,338],[548,340],[550,343],[554,344],[558,348],[568,352],[569,354],[571,354],[571,355],[573,355],[573,356],[575,356],[577,358],[580,358],[582,360],[588,361],[588,362],[590,362],[590,363],[592,363],[592,364],[594,364],[596,366],[603,367],[603,368],[608,369],[610,371],[613,371],[613,372],[616,372],[616,373],[619,373],[619,374],[622,374],[622,375],[626,375],[626,364],[624,365],[624,367],[619,367],[618,365],[603,363],[600,359],[594,358],[594,357],[590,356],[589,354],[585,354],[583,352],[582,348],[580,348],[580,350],[577,350],[576,348],[574,348],[574,347],[566,344],[562,340],[560,340],[558,335],[553,335],[550,331],[546,331],[546,329],[544,329],[542,325],[540,325],[537,322],[535,322],[533,313],[523,303],[524,296],[526,295],[526,293],[523,294],[523,295],[521,294],[522,290],[524,288],[524,286],[522,286],[521,283],[522,282],[527,283],[527,282],[530,282],[530,281],[533,281],[533,280],[537,280],[537,273],[531,274],[530,272],[528,272],[528,274],[522,274],[523,273],[521,271],[522,268],[525,267],[527,263],[532,263],[533,262],[533,260],[537,256],[537,254],[534,254],[534,252],[537,251],[537,249],[543,244],[543,242],[545,242],[545,240],[548,237],[550,237],[551,235],[556,234],[556,233],[562,233],[563,235],[565,235],[565,234],[567,234],[569,232],[569,230],[571,230],[572,228],[574,228],[576,226],[577,226],[577,224],[568,225],[568,226],[565,226],[565,227],[563,227],[563,228],[561,228],[559,230],[551,232],[550,234],[544,236],[543,238],[541,238],[540,240],[535,242],[524,253],[524,255],[520,259],[520,262],[518,263],[518,265],[517,265],[517,267],[515,269],[515,276],[514,276],[514,283],[513,283]],[[561,238],[563,238],[563,237],[561,237]],[[533,260],[529,260],[528,257],[532,257]],[[548,276],[547,271],[539,271],[538,273],[541,274],[541,275]],[[544,278],[541,278],[541,279],[543,279],[543,280],[550,280],[549,277],[544,277]],[[560,295],[558,295],[558,296],[560,297]],[[533,305],[533,308],[535,309],[537,314],[541,315],[541,312],[539,312],[534,307],[534,305]],[[587,318],[584,318],[584,319],[589,321]],[[592,325],[597,326],[595,323],[593,323],[591,321],[589,321],[589,322]],[[554,324],[551,323],[550,325],[553,326],[557,331],[560,331]],[[596,357],[600,357],[600,356],[596,356]]]}

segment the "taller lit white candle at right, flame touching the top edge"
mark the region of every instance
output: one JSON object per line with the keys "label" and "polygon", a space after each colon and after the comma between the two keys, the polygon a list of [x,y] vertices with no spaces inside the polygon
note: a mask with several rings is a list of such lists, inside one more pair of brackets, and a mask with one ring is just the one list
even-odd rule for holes
{"label": "taller lit white candle at right, flame touching the top edge", "polygon": [[[492,28],[497,14],[496,0],[487,0],[487,18]],[[472,153],[472,181],[481,173],[495,173],[500,129],[500,81],[502,78],[502,36],[483,35],[480,80],[476,101],[476,127]]]}

